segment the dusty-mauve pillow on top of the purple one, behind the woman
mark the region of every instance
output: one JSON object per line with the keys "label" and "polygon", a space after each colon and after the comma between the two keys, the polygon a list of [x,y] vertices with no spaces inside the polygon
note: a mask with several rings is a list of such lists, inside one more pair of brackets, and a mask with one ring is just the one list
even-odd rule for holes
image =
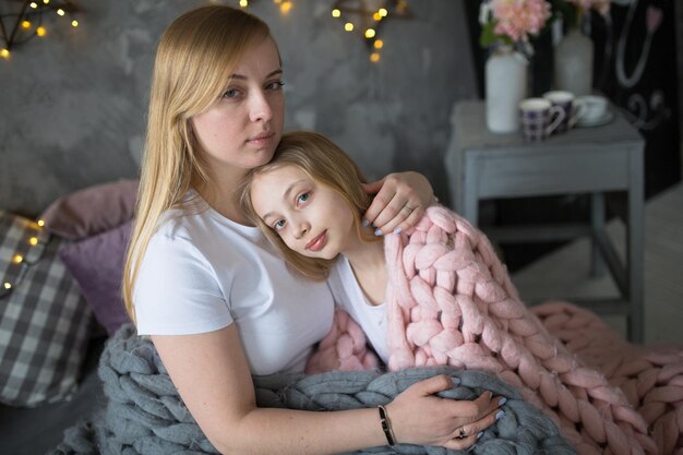
{"label": "dusty-mauve pillow on top of the purple one, behind the woman", "polygon": [[59,197],[40,215],[45,228],[69,240],[82,240],[133,218],[137,180],[88,187]]}

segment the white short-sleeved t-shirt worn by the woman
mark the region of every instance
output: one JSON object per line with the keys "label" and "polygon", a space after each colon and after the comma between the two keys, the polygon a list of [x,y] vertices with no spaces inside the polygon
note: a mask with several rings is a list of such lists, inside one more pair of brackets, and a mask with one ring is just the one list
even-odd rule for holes
{"label": "white short-sleeved t-shirt worn by the woman", "polygon": [[139,334],[207,333],[235,322],[252,374],[302,372],[332,328],[329,289],[290,271],[257,228],[227,219],[194,191],[189,199],[192,207],[164,215],[141,262]]}

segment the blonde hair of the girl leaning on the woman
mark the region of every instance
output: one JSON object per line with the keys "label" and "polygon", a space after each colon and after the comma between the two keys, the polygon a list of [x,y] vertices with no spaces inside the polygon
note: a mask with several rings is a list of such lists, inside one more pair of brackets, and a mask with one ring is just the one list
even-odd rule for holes
{"label": "blonde hair of the girl leaning on the woman", "polygon": [[362,228],[361,216],[371,202],[370,196],[361,187],[366,179],[356,163],[332,141],[317,133],[296,131],[284,134],[273,159],[268,164],[251,169],[241,182],[240,207],[244,215],[259,226],[272,243],[279,248],[289,265],[309,278],[324,280],[329,275],[329,267],[335,260],[307,258],[290,250],[275,229],[263,223],[256,215],[251,203],[253,178],[284,166],[296,166],[317,183],[336,191],[354,214],[354,226],[358,237],[364,241],[376,241],[380,238],[369,235]]}

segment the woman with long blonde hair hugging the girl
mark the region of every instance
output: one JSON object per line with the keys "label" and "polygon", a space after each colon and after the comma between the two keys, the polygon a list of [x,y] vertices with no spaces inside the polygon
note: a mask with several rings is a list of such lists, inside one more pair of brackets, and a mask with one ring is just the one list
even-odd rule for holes
{"label": "woman with long blonde hair hugging the girl", "polygon": [[[127,308],[221,453],[383,445],[378,409],[255,405],[251,375],[303,371],[334,307],[325,284],[289,271],[239,207],[240,179],[272,158],[281,135],[281,74],[267,26],[240,10],[190,11],[161,36],[125,264]],[[432,197],[415,173],[367,189],[380,187],[366,218],[384,232],[410,226]],[[386,407],[398,442],[464,448],[476,441],[496,405],[490,394],[474,402],[434,396],[451,386],[447,376],[433,378]],[[470,432],[457,439],[463,426]]]}

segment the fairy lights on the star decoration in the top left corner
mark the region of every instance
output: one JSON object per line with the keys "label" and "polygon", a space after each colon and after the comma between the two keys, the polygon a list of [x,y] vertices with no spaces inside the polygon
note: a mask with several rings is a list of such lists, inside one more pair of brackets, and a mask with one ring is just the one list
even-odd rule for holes
{"label": "fairy lights on the star decoration in the top left corner", "polygon": [[[0,12],[0,58],[9,60],[16,46],[48,35],[47,19],[50,16],[70,20],[77,27],[75,13],[79,7],[71,0],[3,0],[4,3],[20,4],[13,12]],[[4,9],[2,11],[5,11]]]}

